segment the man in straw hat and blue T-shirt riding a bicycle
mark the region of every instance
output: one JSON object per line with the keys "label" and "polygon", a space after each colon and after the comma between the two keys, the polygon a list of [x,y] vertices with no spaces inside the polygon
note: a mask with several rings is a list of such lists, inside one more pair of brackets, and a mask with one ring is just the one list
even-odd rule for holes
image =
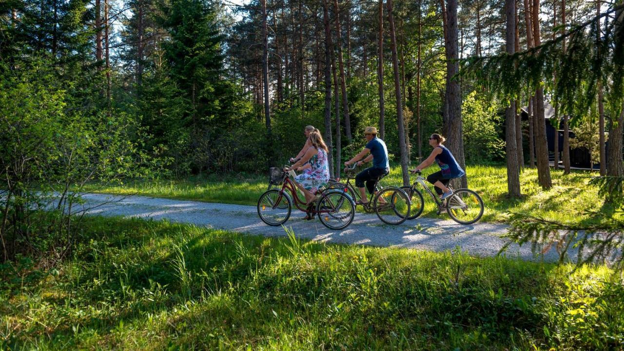
{"label": "man in straw hat and blue T-shirt riding a bicycle", "polygon": [[[356,201],[356,204],[358,205],[368,204],[366,192],[364,190],[364,182],[366,182],[366,188],[368,189],[369,194],[373,194],[375,190],[375,182],[379,179],[379,177],[388,174],[390,171],[390,165],[388,163],[388,148],[386,147],[386,143],[377,137],[377,128],[366,127],[366,129],[364,129],[364,137],[366,137],[366,141],[368,141],[364,150],[354,156],[353,159],[344,162],[344,166],[349,166],[350,164],[356,162],[356,160],[362,160],[363,157],[369,152],[371,153],[362,161],[358,161],[358,166],[361,166],[364,162],[371,161],[371,159],[373,160],[373,167],[364,169],[364,171],[359,172],[355,177],[355,185],[359,188],[359,193],[362,198],[361,200]],[[383,199],[381,202],[383,202]]]}

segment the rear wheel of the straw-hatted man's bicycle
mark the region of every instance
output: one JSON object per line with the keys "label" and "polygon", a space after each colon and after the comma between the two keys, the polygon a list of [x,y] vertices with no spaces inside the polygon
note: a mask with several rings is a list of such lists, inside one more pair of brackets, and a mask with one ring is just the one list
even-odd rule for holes
{"label": "rear wheel of the straw-hatted man's bicycle", "polygon": [[373,207],[382,222],[397,225],[409,217],[410,200],[402,189],[384,187],[375,195]]}

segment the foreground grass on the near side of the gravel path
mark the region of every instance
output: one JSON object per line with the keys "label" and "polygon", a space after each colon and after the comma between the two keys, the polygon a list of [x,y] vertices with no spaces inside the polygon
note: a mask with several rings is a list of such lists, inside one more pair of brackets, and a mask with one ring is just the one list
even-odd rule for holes
{"label": "foreground grass on the near side of the gravel path", "polygon": [[[50,274],[0,269],[0,349],[619,349],[603,266],[92,217]],[[26,263],[24,263],[26,262]],[[37,274],[39,272],[39,274]]]}

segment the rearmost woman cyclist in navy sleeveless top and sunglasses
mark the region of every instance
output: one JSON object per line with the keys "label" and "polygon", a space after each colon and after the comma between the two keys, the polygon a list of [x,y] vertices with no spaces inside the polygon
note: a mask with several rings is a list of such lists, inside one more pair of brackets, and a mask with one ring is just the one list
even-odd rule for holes
{"label": "rearmost woman cyclist in navy sleeveless top and sunglasses", "polygon": [[434,185],[434,189],[436,189],[436,193],[440,196],[441,200],[453,194],[452,190],[447,188],[451,179],[466,175],[466,172],[459,166],[455,157],[451,154],[451,151],[449,151],[446,146],[442,145],[444,141],[446,141],[446,138],[440,134],[431,134],[431,137],[429,137],[429,145],[433,147],[431,155],[411,171],[413,173],[422,171],[436,161],[441,170],[429,174],[427,181]]}

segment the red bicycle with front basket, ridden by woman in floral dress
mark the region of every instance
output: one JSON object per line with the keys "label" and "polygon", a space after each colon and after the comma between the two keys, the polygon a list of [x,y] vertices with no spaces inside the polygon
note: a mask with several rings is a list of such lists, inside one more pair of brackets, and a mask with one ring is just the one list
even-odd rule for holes
{"label": "red bicycle with front basket, ridden by woman in floral dress", "polygon": [[[292,172],[294,174],[295,172]],[[337,189],[319,190],[320,195],[313,207],[306,205],[297,192],[297,185],[291,177],[292,174],[278,168],[269,170],[271,184],[281,184],[281,189],[266,190],[258,199],[258,215],[268,225],[282,225],[290,218],[293,205],[312,215],[318,215],[318,219],[325,227],[339,230],[348,227],[355,217],[355,203],[344,191]],[[289,176],[291,175],[291,176]]]}

